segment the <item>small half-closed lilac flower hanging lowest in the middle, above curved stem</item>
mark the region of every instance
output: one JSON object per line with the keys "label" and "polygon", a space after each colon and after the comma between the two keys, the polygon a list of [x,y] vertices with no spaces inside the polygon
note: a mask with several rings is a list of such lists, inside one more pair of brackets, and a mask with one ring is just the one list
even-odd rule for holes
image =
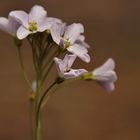
{"label": "small half-closed lilac flower hanging lowest in the middle, above curved stem", "polygon": [[76,55],[66,55],[63,60],[54,58],[58,75],[64,79],[75,78],[87,72],[85,69],[72,69],[71,66],[76,59]]}

